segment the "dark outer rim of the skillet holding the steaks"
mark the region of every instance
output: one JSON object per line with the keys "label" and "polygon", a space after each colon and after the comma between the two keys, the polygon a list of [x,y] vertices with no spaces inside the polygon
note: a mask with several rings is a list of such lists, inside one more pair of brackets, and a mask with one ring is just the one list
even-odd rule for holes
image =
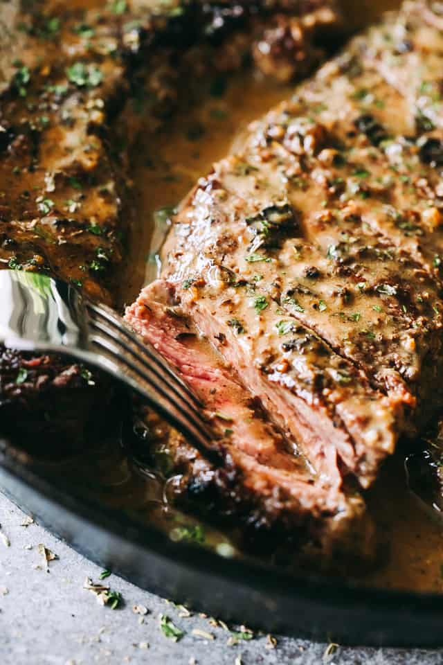
{"label": "dark outer rim of the skillet holding the steaks", "polygon": [[0,488],[74,549],[145,589],[266,632],[371,646],[441,646],[443,595],[294,578],[172,542],[0,450]]}

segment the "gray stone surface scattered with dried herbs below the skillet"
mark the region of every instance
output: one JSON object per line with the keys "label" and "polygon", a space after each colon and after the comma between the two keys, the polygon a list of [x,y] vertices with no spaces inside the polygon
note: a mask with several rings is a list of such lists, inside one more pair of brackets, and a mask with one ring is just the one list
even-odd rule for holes
{"label": "gray stone surface scattered with dried herbs below the skillet", "polygon": [[[111,574],[103,584],[123,598],[112,610],[84,589],[101,569],[29,521],[0,495],[0,665],[443,664],[443,650],[345,648],[280,635],[275,646],[265,635],[229,645],[230,633],[209,617],[186,616]],[[47,570],[42,545],[57,555]],[[165,637],[161,614],[184,632],[179,641]]]}

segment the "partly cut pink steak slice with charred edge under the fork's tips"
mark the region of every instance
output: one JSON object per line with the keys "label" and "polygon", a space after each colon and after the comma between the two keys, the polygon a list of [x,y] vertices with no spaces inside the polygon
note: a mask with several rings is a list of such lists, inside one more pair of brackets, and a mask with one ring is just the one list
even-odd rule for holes
{"label": "partly cut pink steak slice with charred edge under the fork's tips", "polygon": [[174,288],[157,281],[127,309],[126,319],[202,400],[224,457],[224,465],[213,468],[177,434],[170,437],[171,472],[183,474],[183,498],[199,495],[200,507],[206,498],[213,519],[235,513],[251,531],[284,529],[295,551],[316,552],[328,562],[340,552],[369,560],[374,531],[363,499],[343,488],[338,475],[314,474],[175,303]]}

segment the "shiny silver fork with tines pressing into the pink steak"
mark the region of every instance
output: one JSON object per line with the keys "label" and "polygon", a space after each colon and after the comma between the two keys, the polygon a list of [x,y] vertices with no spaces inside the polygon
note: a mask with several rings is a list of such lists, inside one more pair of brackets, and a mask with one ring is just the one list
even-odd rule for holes
{"label": "shiny silver fork with tines pressing into the pink steak", "polygon": [[1,270],[0,342],[22,351],[71,355],[104,370],[139,393],[206,458],[218,460],[197,396],[114,310],[91,303],[73,285]]}

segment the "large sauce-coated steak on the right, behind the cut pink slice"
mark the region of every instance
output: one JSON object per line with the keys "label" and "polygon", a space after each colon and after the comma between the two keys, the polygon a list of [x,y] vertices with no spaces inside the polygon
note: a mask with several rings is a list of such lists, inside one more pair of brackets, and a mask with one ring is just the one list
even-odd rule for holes
{"label": "large sauce-coated steak on the right, behind the cut pink slice", "polygon": [[[343,487],[370,486],[442,407],[438,12],[405,3],[253,123],[163,251],[180,316]],[[138,330],[150,293],[129,310]]]}

